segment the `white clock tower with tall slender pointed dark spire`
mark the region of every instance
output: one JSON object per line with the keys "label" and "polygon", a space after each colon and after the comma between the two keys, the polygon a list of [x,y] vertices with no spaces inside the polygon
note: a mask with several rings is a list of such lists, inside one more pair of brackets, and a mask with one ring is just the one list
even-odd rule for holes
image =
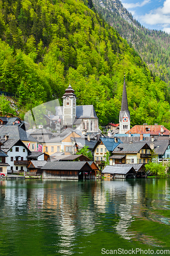
{"label": "white clock tower with tall slender pointed dark spire", "polygon": [[119,112],[119,134],[125,134],[130,130],[130,112],[128,109],[128,99],[126,92],[126,82],[124,76],[124,89],[122,95],[122,106]]}

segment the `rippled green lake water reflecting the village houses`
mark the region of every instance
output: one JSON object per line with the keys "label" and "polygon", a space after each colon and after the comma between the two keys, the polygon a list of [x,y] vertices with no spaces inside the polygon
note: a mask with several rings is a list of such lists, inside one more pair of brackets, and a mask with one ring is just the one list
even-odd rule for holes
{"label": "rippled green lake water reflecting the village houses", "polygon": [[1,180],[0,255],[170,255],[169,185]]}

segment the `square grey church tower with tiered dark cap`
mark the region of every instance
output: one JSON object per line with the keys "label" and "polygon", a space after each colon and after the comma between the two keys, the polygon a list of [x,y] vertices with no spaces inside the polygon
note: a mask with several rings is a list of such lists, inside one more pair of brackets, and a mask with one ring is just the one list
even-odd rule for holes
{"label": "square grey church tower with tiered dark cap", "polygon": [[63,95],[63,125],[72,128],[76,118],[76,95],[75,91],[69,84]]}

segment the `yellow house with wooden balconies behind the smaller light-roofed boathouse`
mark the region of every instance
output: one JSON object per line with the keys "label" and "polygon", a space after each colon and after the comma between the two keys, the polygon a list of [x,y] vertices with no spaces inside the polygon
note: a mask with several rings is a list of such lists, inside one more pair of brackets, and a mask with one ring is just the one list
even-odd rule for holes
{"label": "yellow house with wooden balconies behind the smaller light-roofed boathouse", "polygon": [[151,159],[151,147],[145,142],[119,144],[112,152],[110,165],[115,163],[148,163]]}

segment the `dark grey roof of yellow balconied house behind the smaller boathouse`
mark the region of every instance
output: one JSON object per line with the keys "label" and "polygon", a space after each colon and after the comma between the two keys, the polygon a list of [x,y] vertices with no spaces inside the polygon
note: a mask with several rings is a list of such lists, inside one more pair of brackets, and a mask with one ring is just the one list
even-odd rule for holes
{"label": "dark grey roof of yellow balconied house behind the smaller boathouse", "polygon": [[138,153],[142,148],[148,148],[151,150],[150,146],[145,142],[134,142],[130,144],[121,144],[118,145],[112,153],[118,154],[127,154],[127,153]]}

